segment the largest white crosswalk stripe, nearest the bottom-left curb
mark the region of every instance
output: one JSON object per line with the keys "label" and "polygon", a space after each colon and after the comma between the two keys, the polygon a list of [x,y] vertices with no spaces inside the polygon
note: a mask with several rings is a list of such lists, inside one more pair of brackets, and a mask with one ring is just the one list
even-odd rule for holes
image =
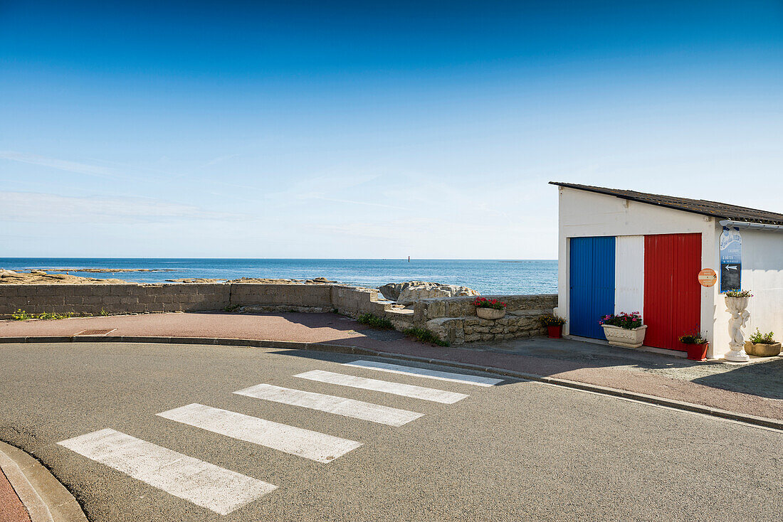
{"label": "largest white crosswalk stripe, nearest the bottom-left curb", "polygon": [[99,430],[57,444],[221,515],[277,488],[115,430]]}

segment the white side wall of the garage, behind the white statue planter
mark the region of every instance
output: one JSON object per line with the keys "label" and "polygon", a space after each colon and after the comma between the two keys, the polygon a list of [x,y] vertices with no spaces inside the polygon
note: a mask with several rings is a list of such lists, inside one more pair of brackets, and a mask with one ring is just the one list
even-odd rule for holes
{"label": "white side wall of the garage, behind the white statue planter", "polygon": [[[717,242],[722,228],[716,226],[713,234],[716,247],[714,263],[720,263]],[[742,235],[742,290],[750,290],[753,297],[748,305],[750,319],[743,330],[745,339],[756,331],[770,330],[775,340],[783,340],[783,232],[740,229]],[[720,265],[718,265],[720,266]],[[720,270],[716,268],[720,274]],[[715,337],[713,356],[721,357],[729,347],[729,313],[720,292],[720,281],[713,286]]]}

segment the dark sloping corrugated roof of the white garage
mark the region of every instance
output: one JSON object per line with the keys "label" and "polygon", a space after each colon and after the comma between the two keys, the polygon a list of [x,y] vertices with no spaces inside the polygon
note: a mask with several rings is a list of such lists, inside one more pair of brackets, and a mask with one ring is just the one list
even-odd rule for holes
{"label": "dark sloping corrugated roof of the white garage", "polygon": [[755,208],[738,207],[737,205],[718,203],[717,201],[691,200],[687,197],[662,196],[660,194],[636,192],[635,190],[607,189],[591,185],[577,185],[576,183],[550,182],[550,184],[567,187],[568,189],[606,194],[607,196],[622,198],[623,200],[639,201],[640,203],[658,205],[659,207],[673,208],[678,211],[713,216],[713,218],[764,223],[767,225],[783,225],[783,214],[759,211]]}

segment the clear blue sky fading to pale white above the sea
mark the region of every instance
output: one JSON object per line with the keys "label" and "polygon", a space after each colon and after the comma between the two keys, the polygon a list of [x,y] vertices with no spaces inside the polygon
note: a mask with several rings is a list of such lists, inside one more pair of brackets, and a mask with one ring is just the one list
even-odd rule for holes
{"label": "clear blue sky fading to pale white above the sea", "polygon": [[783,2],[0,0],[0,257],[554,258],[550,180],[783,212]]}

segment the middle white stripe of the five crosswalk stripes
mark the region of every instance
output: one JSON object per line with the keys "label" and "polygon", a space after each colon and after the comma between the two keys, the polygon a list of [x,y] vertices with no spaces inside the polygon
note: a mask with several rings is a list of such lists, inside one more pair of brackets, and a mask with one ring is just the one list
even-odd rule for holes
{"label": "middle white stripe of the five crosswalk stripes", "polygon": [[292,390],[291,388],[272,386],[272,384],[257,384],[234,393],[266,401],[317,409],[321,412],[335,413],[354,419],[369,420],[373,423],[388,424],[388,426],[402,426],[424,415],[424,413],[409,412],[405,409],[390,408],[371,402],[316,394],[312,391]]}

